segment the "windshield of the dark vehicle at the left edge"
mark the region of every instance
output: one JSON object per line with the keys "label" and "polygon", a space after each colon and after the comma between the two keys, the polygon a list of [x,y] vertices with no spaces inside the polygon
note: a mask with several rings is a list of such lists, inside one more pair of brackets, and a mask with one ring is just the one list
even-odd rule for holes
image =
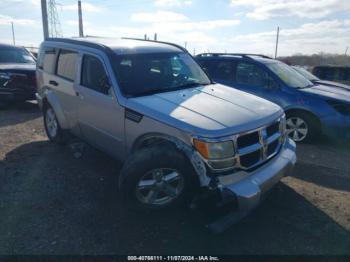
{"label": "windshield of the dark vehicle at the left edge", "polygon": [[35,60],[25,49],[0,49],[0,63],[35,64]]}

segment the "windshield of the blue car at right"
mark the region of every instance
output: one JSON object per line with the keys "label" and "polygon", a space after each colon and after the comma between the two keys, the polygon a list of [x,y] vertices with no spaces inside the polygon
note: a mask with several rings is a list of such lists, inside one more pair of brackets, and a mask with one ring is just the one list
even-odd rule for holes
{"label": "windshield of the blue car at right", "polygon": [[310,80],[297,73],[292,67],[285,63],[274,61],[266,63],[266,66],[290,87],[305,88],[313,85]]}

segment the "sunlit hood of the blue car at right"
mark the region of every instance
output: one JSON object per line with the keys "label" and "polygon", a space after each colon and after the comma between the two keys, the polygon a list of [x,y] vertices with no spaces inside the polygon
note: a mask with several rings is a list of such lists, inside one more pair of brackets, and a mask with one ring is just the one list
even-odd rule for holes
{"label": "sunlit hood of the blue car at right", "polygon": [[303,88],[299,90],[301,92],[306,92],[313,95],[350,102],[350,90],[340,86],[327,86],[316,84],[312,87]]}

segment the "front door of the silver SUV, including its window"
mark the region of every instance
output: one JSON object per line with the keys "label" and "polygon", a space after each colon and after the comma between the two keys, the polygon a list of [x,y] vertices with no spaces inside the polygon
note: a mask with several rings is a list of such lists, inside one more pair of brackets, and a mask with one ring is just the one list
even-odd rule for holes
{"label": "front door of the silver SUV, including its window", "polygon": [[124,154],[124,108],[118,104],[106,64],[100,56],[81,56],[79,126],[84,138],[115,157]]}

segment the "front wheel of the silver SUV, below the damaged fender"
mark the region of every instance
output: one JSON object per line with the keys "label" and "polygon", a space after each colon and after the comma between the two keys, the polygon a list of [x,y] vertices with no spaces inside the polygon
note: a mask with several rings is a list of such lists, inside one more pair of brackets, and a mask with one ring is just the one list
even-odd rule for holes
{"label": "front wheel of the silver SUV, below the damaged fender", "polygon": [[133,210],[178,207],[191,200],[197,188],[198,180],[190,161],[168,143],[134,153],[119,177],[123,203]]}

